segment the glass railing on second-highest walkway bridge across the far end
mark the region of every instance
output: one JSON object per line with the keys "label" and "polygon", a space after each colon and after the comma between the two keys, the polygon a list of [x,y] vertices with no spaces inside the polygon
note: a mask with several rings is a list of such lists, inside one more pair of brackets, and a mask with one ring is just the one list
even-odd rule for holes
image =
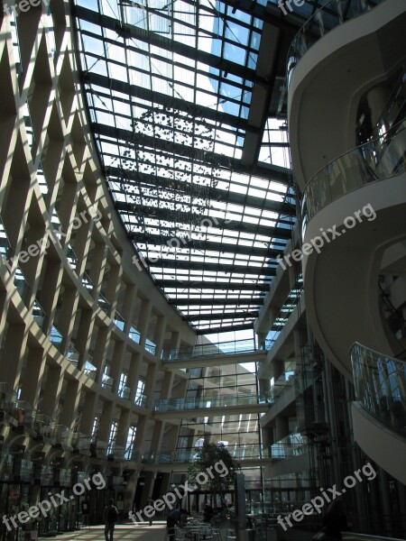
{"label": "glass railing on second-highest walkway bridge across the far end", "polygon": [[256,394],[241,394],[221,397],[189,398],[189,399],[156,399],[153,401],[153,411],[180,411],[184,409],[230,408],[256,406],[267,403],[264,396]]}

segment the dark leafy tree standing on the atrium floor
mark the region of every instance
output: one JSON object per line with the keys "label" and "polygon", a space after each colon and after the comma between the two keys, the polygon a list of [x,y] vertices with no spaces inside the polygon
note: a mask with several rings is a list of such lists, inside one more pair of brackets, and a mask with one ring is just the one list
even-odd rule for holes
{"label": "dark leafy tree standing on the atrium floor", "polygon": [[208,491],[210,504],[221,498],[224,507],[226,492],[233,487],[235,475],[241,466],[234,460],[223,444],[204,443],[198,450],[193,463],[189,465],[189,482],[199,491]]}

